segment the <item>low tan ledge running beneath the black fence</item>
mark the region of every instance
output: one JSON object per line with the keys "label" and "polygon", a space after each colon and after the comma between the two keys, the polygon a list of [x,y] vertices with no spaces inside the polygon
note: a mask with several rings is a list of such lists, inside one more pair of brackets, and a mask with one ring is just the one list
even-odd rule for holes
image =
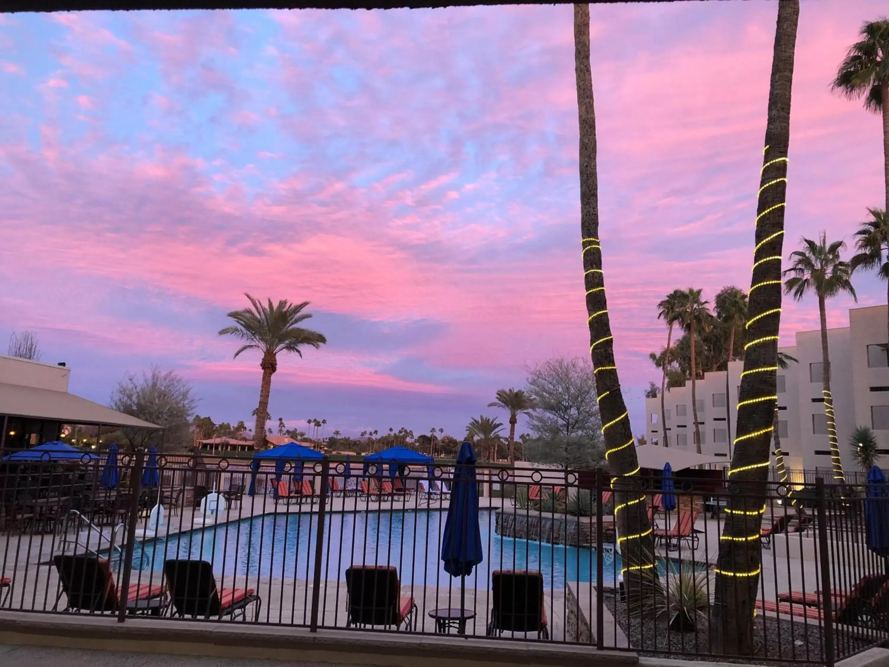
{"label": "low tan ledge running beneath the black fence", "polygon": [[380,631],[319,630],[247,623],[0,612],[0,644],[92,648],[165,655],[267,658],[375,667],[471,667],[480,663],[635,667],[635,652],[509,639],[459,639]]}

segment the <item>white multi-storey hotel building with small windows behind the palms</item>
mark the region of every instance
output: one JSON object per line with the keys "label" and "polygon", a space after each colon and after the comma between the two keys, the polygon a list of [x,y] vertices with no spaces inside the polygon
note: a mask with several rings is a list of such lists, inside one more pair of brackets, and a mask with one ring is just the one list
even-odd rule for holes
{"label": "white multi-storey hotel building with small windows behind the palms", "polygon": [[[849,325],[828,329],[831,393],[843,470],[858,470],[850,455],[849,437],[857,426],[874,430],[884,454],[889,454],[889,355],[886,351],[886,306],[849,310]],[[821,331],[801,331],[796,345],[779,350],[797,358],[778,371],[779,435],[785,465],[790,470],[830,470],[824,398],[821,396]],[[731,460],[736,436],[738,390],[742,361],[728,369],[731,400],[726,409],[725,371],[708,373],[697,382],[701,452]],[[694,450],[692,383],[667,390],[665,413],[668,444]],[[661,443],[661,398],[646,398],[646,438]],[[731,434],[729,433],[731,429]],[[774,454],[773,454],[774,462]]]}

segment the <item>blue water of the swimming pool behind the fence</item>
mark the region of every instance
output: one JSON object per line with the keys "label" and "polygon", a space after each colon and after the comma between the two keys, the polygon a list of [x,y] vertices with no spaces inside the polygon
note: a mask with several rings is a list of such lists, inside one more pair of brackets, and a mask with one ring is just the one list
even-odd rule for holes
{"label": "blue water of the swimming pool behind the fence", "polygon": [[[447,586],[442,568],[442,510],[370,510],[331,513],[324,519],[322,577],[341,579],[350,565],[395,566],[403,583]],[[549,589],[565,582],[596,581],[596,550],[529,542],[494,534],[493,510],[479,512],[484,561],[467,579],[486,589],[494,570],[539,570]],[[311,579],[315,568],[316,514],[267,514],[177,534],[166,540],[137,542],[133,567],[161,570],[165,559],[203,559],[226,575]],[[605,582],[620,571],[621,557],[604,554]],[[661,562],[661,573],[668,564]],[[670,561],[675,571],[676,563]]]}

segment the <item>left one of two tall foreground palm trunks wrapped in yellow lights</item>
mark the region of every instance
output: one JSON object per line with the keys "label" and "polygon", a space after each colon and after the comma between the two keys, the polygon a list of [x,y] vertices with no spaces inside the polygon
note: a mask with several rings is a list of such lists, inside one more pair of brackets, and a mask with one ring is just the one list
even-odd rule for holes
{"label": "left one of two tall foreground palm trunks wrapped in yellow lights", "polygon": [[587,290],[589,350],[603,423],[605,459],[612,474],[615,494],[614,514],[623,559],[622,574],[628,602],[633,605],[642,600],[644,587],[649,594],[653,593],[657,572],[645,502],[638,502],[645,499],[645,494],[641,491],[633,432],[614,362],[613,335],[605,299],[602,246],[599,242],[596,111],[589,65],[589,4],[574,5],[574,73],[581,133],[581,257]]}

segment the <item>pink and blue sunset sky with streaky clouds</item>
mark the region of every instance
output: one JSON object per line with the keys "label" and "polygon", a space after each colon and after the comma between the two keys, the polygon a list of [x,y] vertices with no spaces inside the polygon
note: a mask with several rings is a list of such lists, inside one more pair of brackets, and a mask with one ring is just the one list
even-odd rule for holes
{"label": "pink and blue sunset sky with streaky clouds", "polygon": [[[605,285],[635,432],[676,288],[749,288],[777,4],[591,9]],[[884,202],[880,119],[830,92],[883,0],[802,3],[785,257]],[[0,14],[0,342],[70,390],[172,369],[251,423],[226,313],[310,301],[279,361],[288,428],[460,437],[501,388],[588,357],[573,10]],[[885,285],[857,276],[859,304]],[[847,325],[850,298],[829,302]],[[817,328],[786,301],[781,344]],[[501,413],[501,417],[505,417]],[[506,422],[506,419],[501,419]],[[524,424],[519,424],[519,432]]]}

